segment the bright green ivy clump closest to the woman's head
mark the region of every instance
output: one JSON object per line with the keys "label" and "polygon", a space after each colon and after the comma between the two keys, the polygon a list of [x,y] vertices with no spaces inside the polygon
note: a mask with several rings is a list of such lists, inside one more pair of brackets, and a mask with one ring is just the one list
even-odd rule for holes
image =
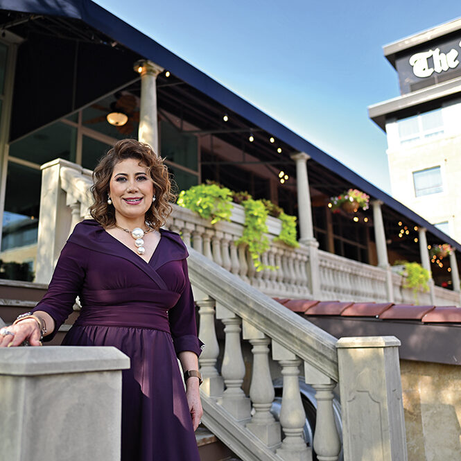
{"label": "bright green ivy clump closest to the woman's head", "polygon": [[198,184],[187,191],[181,191],[177,205],[211,219],[211,224],[229,221],[232,214],[232,192],[216,184]]}

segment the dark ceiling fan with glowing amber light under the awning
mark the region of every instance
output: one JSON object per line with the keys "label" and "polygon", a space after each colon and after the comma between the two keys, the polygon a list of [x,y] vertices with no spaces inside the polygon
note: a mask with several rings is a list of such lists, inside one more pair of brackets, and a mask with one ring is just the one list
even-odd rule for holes
{"label": "dark ceiling fan with glowing amber light under the awning", "polygon": [[134,130],[134,123],[139,123],[138,98],[133,94],[116,93],[116,101],[110,104],[110,107],[104,107],[100,104],[92,104],[96,110],[101,110],[105,114],[84,121],[85,125],[92,123],[101,123],[107,121],[121,132],[121,134],[130,134]]}

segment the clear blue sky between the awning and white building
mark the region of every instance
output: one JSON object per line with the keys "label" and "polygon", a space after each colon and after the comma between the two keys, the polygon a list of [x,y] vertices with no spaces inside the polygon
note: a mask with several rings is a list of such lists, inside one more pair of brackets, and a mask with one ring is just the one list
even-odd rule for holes
{"label": "clear blue sky between the awning and white building", "polygon": [[367,106],[399,96],[382,46],[461,16],[460,0],[96,0],[390,193]]}

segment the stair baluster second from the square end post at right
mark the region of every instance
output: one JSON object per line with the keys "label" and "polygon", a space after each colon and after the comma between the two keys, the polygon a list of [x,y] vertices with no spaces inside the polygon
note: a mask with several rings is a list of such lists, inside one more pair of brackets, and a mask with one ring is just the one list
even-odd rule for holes
{"label": "stair baluster second from the square end post at right", "polygon": [[312,448],[306,446],[303,428],[306,413],[299,393],[299,360],[293,352],[288,351],[278,342],[272,341],[272,358],[281,365],[284,376],[284,390],[281,397],[280,424],[285,438],[276,453],[286,461],[310,461]]}

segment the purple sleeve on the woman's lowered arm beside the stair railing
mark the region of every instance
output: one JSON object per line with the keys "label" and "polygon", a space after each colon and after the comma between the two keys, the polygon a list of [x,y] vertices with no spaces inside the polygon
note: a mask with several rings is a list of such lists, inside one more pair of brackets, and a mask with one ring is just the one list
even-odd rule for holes
{"label": "purple sleeve on the woman's lowered arm beside the stair railing", "polygon": [[185,284],[180,299],[175,306],[168,311],[171,336],[176,354],[182,351],[192,351],[200,356],[203,342],[197,336],[197,324],[195,323],[195,304],[193,302],[191,282],[187,270],[186,260],[182,260]]}

